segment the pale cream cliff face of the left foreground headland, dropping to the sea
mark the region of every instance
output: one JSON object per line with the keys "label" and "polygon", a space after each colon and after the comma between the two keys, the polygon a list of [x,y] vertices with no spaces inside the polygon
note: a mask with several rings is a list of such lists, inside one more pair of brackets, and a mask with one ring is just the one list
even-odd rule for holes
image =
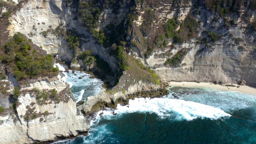
{"label": "pale cream cliff face of the left foreground headland, dropping to the sea", "polygon": [[[65,78],[59,75],[58,80],[36,82],[30,88],[21,89],[22,94],[15,102],[16,112],[0,116],[0,143],[44,142],[88,132],[90,122],[77,112],[76,103],[64,81]],[[44,92],[56,89],[57,93],[62,92],[62,96],[60,101],[43,100],[45,104],[38,104],[38,94],[31,91],[34,88]],[[1,106],[3,104],[2,101]],[[8,105],[5,107],[8,109]]]}

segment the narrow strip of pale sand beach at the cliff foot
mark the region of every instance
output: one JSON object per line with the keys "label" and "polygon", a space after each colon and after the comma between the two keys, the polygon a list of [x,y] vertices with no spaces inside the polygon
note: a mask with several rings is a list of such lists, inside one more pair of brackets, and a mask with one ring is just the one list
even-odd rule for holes
{"label": "narrow strip of pale sand beach at the cliff foot", "polygon": [[[223,90],[223,91],[237,91],[237,92],[243,92],[243,93],[249,93],[249,94],[256,94],[256,88],[250,87],[250,86],[240,86],[232,87],[232,86],[222,86],[219,84],[213,84],[213,83],[207,83],[207,82],[168,82],[170,86],[180,86],[180,87],[186,87],[186,88],[210,88],[210,89],[216,89],[216,90]],[[224,84],[226,85],[226,84]],[[233,84],[235,86],[238,86],[237,84]]]}

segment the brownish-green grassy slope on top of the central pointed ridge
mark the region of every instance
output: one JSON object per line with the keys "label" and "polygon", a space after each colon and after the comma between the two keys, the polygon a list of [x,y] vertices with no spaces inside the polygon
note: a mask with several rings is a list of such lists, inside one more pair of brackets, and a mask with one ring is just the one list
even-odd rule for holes
{"label": "brownish-green grassy slope on top of the central pointed ridge", "polygon": [[159,85],[160,82],[154,73],[154,71],[137,60],[136,58],[126,55],[129,70],[123,72],[123,75],[119,79],[118,84],[109,92],[122,92],[126,91],[132,84],[136,84],[139,81],[151,84]]}

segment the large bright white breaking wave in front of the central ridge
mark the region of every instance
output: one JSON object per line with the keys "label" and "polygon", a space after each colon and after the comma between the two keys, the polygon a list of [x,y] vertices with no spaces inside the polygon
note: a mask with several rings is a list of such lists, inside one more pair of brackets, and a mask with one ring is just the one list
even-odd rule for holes
{"label": "large bright white breaking wave in front of the central ridge", "polygon": [[[102,115],[104,118],[114,118],[113,114],[109,111],[101,112],[104,113]],[[169,98],[135,98],[135,100],[129,101],[128,106],[121,106],[118,104],[114,112],[117,113],[116,116],[122,116],[122,114],[133,112],[148,112],[150,114],[157,114],[159,120],[168,118],[170,120],[177,121],[191,121],[196,118],[208,118],[210,120],[216,120],[229,118],[231,116],[219,108],[214,108],[212,106],[207,106],[197,102]]]}

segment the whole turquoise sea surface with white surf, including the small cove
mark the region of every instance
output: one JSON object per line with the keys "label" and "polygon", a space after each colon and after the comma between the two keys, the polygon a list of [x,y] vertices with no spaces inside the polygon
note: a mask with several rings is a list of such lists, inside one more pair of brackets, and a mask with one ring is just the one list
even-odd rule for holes
{"label": "whole turquoise sea surface with white surf, including the small cove", "polygon": [[[86,75],[67,73],[76,98],[98,94],[102,82],[89,77],[78,81],[78,74]],[[207,88],[169,90],[163,98],[136,98],[127,106],[100,111],[91,120],[88,136],[54,143],[256,144],[256,95]]]}

